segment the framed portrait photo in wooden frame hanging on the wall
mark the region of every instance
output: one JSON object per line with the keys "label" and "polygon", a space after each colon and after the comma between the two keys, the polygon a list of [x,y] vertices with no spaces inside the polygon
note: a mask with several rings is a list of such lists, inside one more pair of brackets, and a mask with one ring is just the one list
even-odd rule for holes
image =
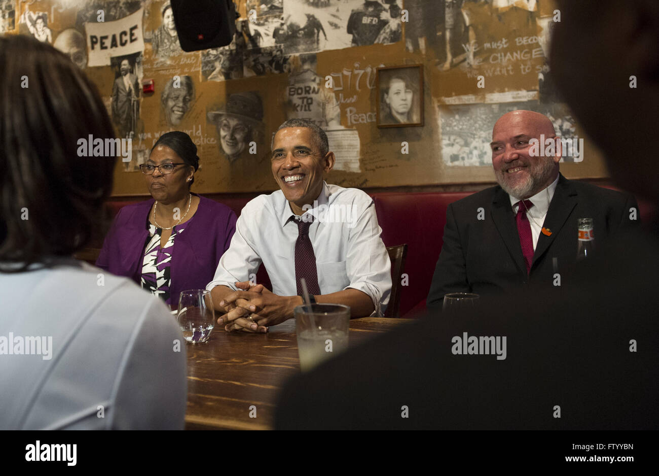
{"label": "framed portrait photo in wooden frame hanging on the wall", "polygon": [[422,65],[377,69],[378,127],[423,125]]}

